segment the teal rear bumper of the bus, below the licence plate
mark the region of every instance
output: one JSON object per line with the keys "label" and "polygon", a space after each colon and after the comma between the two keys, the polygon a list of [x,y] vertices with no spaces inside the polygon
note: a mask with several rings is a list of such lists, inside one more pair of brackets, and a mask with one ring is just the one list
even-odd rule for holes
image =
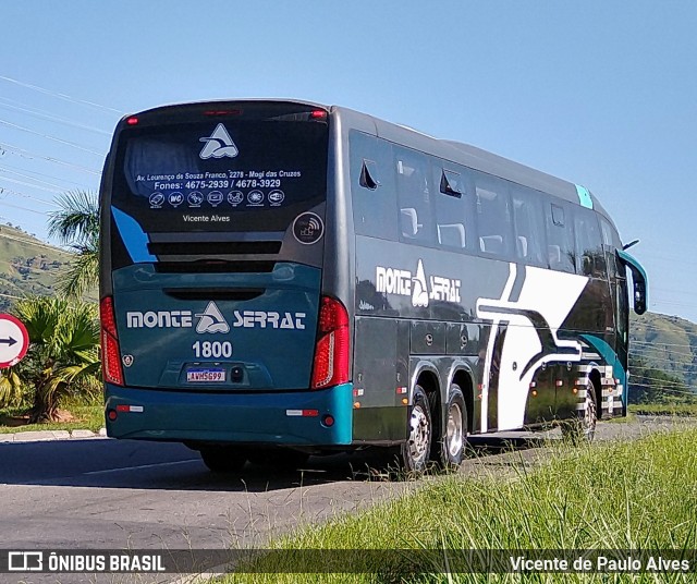
{"label": "teal rear bumper of the bus, below the licence plate", "polygon": [[[107,435],[181,442],[350,445],[353,385],[293,392],[200,393],[106,384]],[[329,416],[329,417],[328,417]]]}

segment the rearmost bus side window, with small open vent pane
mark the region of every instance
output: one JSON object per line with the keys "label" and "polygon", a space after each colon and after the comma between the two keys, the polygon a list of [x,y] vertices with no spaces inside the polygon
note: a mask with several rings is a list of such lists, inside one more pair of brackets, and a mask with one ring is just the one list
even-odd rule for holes
{"label": "rearmost bus side window, with small open vent pane", "polygon": [[354,229],[359,235],[398,241],[396,192],[389,142],[352,131],[348,138]]}

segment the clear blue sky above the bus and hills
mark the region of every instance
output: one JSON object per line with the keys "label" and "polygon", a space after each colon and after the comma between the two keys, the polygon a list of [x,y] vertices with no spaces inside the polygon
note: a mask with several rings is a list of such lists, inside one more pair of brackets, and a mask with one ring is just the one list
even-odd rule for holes
{"label": "clear blue sky above the bus and hills", "polygon": [[693,0],[0,0],[0,222],[54,243],[126,113],[299,98],[585,185],[697,321],[696,31]]}

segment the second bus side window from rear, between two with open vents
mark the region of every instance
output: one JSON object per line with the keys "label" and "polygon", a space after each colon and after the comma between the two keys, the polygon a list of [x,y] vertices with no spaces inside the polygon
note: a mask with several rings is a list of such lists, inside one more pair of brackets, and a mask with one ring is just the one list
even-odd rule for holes
{"label": "second bus side window from rear, between two with open vents", "polygon": [[433,245],[437,240],[428,157],[395,146],[394,167],[402,241]]}

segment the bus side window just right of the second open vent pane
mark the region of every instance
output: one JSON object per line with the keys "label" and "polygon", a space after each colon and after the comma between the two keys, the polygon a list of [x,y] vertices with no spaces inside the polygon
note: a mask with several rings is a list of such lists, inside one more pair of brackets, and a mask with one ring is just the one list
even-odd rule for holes
{"label": "bus side window just right of the second open vent pane", "polygon": [[477,173],[475,183],[479,251],[513,258],[513,226],[505,181]]}

